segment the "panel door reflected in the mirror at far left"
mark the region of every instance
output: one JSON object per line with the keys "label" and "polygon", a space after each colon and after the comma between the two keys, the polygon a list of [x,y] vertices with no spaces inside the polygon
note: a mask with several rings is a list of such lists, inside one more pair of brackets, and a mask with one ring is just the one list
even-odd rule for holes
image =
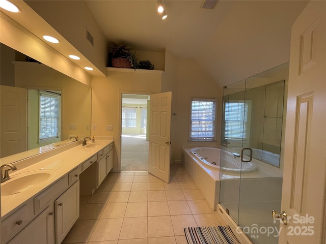
{"label": "panel door reflected in the mirror at far left", "polygon": [[27,90],[1,85],[1,148],[0,157],[27,150]]}

